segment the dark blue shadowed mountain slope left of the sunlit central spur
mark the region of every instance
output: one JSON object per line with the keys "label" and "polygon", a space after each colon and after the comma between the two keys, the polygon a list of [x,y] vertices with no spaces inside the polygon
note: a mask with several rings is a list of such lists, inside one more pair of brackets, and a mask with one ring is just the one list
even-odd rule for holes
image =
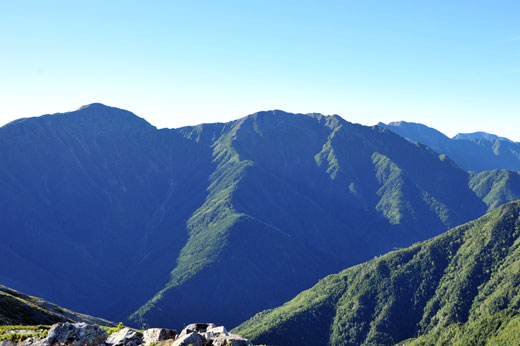
{"label": "dark blue shadowed mountain slope left of the sunlit central spur", "polygon": [[212,170],[207,148],[99,104],[0,128],[0,161],[0,282],[117,320],[167,281]]}

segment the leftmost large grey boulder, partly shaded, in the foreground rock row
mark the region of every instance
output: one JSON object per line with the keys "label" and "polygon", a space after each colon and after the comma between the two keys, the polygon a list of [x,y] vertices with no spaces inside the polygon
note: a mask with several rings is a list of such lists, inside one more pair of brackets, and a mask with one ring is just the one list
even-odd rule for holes
{"label": "leftmost large grey boulder, partly shaded, in the foreground rock row", "polygon": [[38,344],[67,346],[98,346],[107,340],[108,334],[98,325],[86,323],[56,323],[47,337]]}

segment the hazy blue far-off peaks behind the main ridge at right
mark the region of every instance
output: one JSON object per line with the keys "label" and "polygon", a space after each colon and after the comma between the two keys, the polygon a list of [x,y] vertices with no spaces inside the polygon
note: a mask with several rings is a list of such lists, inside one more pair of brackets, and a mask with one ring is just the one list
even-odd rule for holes
{"label": "hazy blue far-off peaks behind the main ridge at right", "polygon": [[520,143],[484,132],[458,134],[453,139],[428,126],[405,121],[388,125],[379,123],[412,142],[425,144],[446,154],[457,165],[468,171],[482,172],[493,169],[520,171]]}

